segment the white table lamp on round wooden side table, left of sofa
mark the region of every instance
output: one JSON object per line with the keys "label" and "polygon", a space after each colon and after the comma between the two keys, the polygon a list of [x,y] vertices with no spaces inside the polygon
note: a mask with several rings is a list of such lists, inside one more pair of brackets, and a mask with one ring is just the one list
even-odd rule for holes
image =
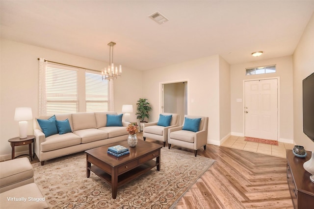
{"label": "white table lamp on round wooden side table, left of sofa", "polygon": [[33,118],[30,107],[15,108],[14,120],[19,121],[20,139],[27,137],[27,121]]}

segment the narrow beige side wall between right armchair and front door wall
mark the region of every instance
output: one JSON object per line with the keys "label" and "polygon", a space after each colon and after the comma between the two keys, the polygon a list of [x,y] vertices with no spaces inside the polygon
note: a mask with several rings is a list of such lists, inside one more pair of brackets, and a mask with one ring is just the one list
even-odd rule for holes
{"label": "narrow beige side wall between right armchair and front door wall", "polygon": [[219,57],[219,124],[220,139],[231,135],[230,65]]}

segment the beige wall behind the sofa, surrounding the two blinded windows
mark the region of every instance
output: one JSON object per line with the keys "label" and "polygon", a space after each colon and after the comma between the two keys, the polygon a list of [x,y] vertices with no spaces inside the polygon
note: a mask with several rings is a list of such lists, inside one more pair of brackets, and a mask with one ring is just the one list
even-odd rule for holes
{"label": "beige wall behind the sofa, surrounding the two blinded windows", "polygon": [[[76,65],[89,69],[103,69],[102,61],[78,57],[50,49],[21,44],[1,39],[0,42],[0,159],[10,156],[11,146],[7,141],[19,136],[18,122],[14,121],[16,107],[31,107],[33,117],[38,116],[38,60],[48,60]],[[122,78],[116,80],[115,111],[121,113],[122,104],[133,104],[141,95],[142,72],[124,68]],[[131,88],[130,88],[131,87]],[[131,119],[136,118],[135,114]],[[134,117],[134,118],[132,118]],[[28,134],[32,134],[32,121],[28,122]],[[27,147],[17,147],[16,152]]]}

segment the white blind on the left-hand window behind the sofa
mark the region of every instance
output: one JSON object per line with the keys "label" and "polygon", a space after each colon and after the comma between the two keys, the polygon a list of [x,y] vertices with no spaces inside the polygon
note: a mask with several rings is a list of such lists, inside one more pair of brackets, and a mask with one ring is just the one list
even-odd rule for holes
{"label": "white blind on the left-hand window behind the sofa", "polygon": [[78,69],[48,64],[47,115],[78,112]]}

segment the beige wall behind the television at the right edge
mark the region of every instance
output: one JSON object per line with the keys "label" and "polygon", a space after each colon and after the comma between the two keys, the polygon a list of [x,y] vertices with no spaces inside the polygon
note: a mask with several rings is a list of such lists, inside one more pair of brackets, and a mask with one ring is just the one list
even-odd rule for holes
{"label": "beige wall behind the television at the right edge", "polygon": [[304,30],[293,54],[293,114],[294,141],[308,151],[314,142],[303,133],[302,80],[314,72],[314,14]]}

